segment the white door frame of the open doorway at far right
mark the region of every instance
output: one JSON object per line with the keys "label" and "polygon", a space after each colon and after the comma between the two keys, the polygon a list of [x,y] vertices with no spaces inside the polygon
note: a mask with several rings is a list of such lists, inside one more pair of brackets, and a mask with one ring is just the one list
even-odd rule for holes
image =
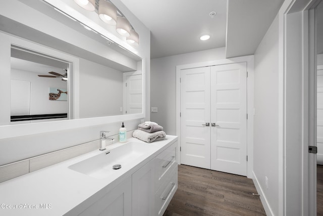
{"label": "white door frame of the open doorway at far right", "polygon": [[[279,137],[279,214],[287,215],[295,210],[298,205],[301,215],[316,215],[316,155],[308,153],[309,145],[316,145],[316,70],[313,69],[313,64],[316,63],[316,57],[313,55],[316,50],[314,41],[315,30],[313,29],[313,7],[321,0],[285,0],[279,11],[279,92],[280,92],[280,128],[282,133]],[[298,15],[295,18],[295,14]],[[293,15],[294,14],[294,15]],[[289,15],[294,16],[293,23],[287,22]],[[293,41],[292,48],[287,46],[287,41],[292,41],[287,32],[297,25],[300,28],[297,33],[301,37]],[[300,27],[299,27],[300,26]],[[295,42],[296,41],[296,42]],[[287,55],[288,53],[300,53],[301,55]],[[296,52],[295,52],[296,51]],[[291,72],[291,68],[286,67],[291,62],[302,62],[302,67],[292,71],[301,80],[301,113],[294,113],[294,118],[301,119],[301,127],[295,133],[302,134],[301,140],[297,143],[288,142],[291,135],[286,133],[294,128],[286,118],[286,106],[290,102],[286,100],[288,90],[291,88],[286,85],[288,77],[286,74]],[[316,66],[315,66],[316,67]],[[295,127],[296,128],[296,127]],[[294,147],[294,148],[291,148]],[[295,149],[300,147],[301,149]],[[296,152],[291,152],[291,149]],[[289,150],[289,151],[288,151]],[[297,154],[300,150],[301,157],[293,157],[292,154]],[[286,164],[289,164],[288,168]],[[298,165],[301,164],[301,167]],[[300,168],[300,169],[299,169]],[[301,175],[300,182],[293,182],[292,176]],[[289,183],[289,184],[288,184]],[[290,193],[296,191],[297,194]]]}

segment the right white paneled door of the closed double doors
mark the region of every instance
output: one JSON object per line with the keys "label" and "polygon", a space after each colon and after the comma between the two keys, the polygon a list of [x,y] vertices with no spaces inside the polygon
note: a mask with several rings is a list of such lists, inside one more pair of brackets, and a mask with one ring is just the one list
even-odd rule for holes
{"label": "right white paneled door of the closed double doors", "polygon": [[246,63],[211,67],[211,123],[211,169],[246,176]]}

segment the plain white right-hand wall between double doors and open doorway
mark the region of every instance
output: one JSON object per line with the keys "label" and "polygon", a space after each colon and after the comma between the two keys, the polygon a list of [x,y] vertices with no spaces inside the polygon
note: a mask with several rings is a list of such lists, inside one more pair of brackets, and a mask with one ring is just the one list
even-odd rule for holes
{"label": "plain white right-hand wall between double doors and open doorway", "polygon": [[[279,204],[278,27],[277,16],[254,54],[253,172],[274,215],[278,215]],[[268,178],[268,189],[265,177]]]}

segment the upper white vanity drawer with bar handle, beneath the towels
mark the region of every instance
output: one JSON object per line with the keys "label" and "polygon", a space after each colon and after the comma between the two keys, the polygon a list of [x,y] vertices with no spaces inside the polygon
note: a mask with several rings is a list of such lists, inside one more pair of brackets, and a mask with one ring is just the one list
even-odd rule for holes
{"label": "upper white vanity drawer with bar handle, beneath the towels", "polygon": [[170,171],[176,166],[177,142],[173,143],[165,151],[155,158],[155,191],[164,183],[170,175]]}

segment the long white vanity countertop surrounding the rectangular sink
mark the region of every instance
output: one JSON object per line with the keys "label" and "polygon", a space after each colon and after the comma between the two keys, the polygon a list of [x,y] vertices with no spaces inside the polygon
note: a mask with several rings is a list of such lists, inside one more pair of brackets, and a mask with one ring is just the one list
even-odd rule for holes
{"label": "long white vanity countertop surrounding the rectangular sink", "polygon": [[[146,162],[176,141],[176,136],[155,141],[150,155],[136,161],[130,169],[120,169],[118,175],[104,179],[89,177],[68,166],[104,152],[95,150],[78,157],[39,169],[29,174],[0,183],[0,215],[63,215],[104,188],[105,191],[117,186]],[[129,138],[127,142],[141,142]],[[107,146],[107,150],[124,143]]]}

